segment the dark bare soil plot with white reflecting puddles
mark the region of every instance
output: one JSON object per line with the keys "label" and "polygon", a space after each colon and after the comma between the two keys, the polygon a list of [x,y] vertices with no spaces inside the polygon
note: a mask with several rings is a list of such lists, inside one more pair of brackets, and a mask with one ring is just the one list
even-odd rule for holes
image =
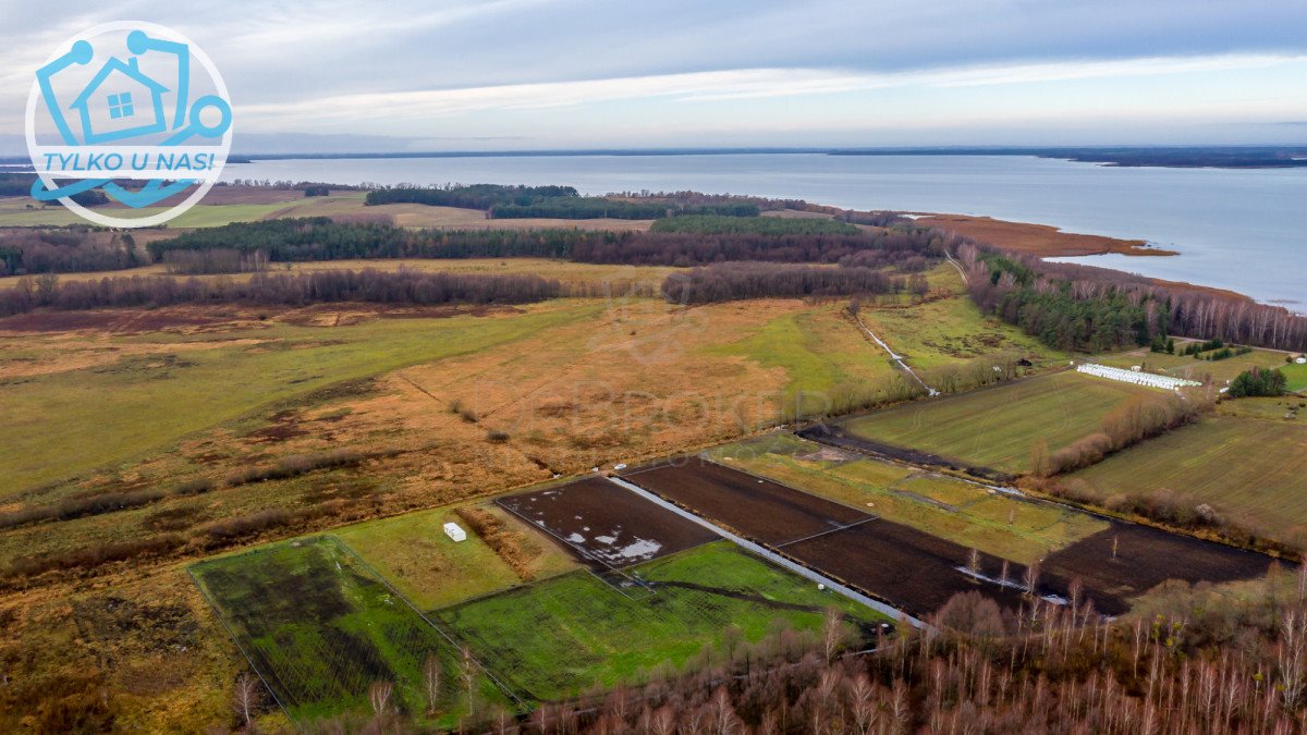
{"label": "dark bare soil plot with white reflecting puddles", "polygon": [[582,561],[606,568],[630,566],[719,538],[603,477],[495,502],[548,531]]}

